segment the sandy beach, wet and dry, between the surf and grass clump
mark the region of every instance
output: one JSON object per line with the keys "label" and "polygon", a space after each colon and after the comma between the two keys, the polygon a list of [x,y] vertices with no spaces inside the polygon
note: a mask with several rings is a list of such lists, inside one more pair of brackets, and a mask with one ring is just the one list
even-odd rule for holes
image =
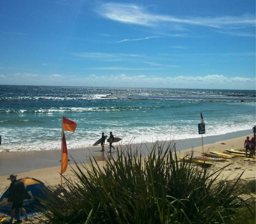
{"label": "sandy beach, wet and dry, between the surf and grass clump", "polygon": [[[232,136],[236,137],[232,138]],[[226,135],[205,137],[203,138],[204,152],[224,151],[225,149],[243,149],[246,136],[249,136],[251,139],[253,137],[252,131],[239,131]],[[203,151],[201,138],[174,142],[176,150],[178,151],[177,153],[181,157],[191,152],[192,147],[195,156],[201,155],[200,152]],[[161,144],[168,146],[169,141],[158,142],[158,146],[161,146]],[[154,143],[131,143],[129,146],[131,146],[132,149],[139,148],[146,154],[153,145]],[[120,148],[121,146],[119,145],[118,147]],[[127,148],[125,145],[122,147]],[[108,150],[107,146],[105,146],[105,150]],[[68,153],[70,154],[69,159],[71,161],[69,162],[69,166],[67,171],[64,173],[64,176],[71,179],[76,178],[71,171],[71,167],[75,167],[71,156],[77,163],[86,163],[89,156],[94,156],[97,163],[102,167],[103,158],[110,155],[108,152],[101,152],[101,146],[94,146],[86,149],[73,149],[69,150]],[[1,152],[0,154],[0,192],[3,192],[7,187],[9,187],[10,181],[7,180],[7,178],[10,174],[17,174],[17,178],[33,177],[50,186],[60,184],[60,150]],[[115,158],[117,153],[112,153],[112,156]],[[232,158],[229,160],[229,162],[216,162],[214,169],[223,167],[227,164],[230,164],[230,166],[222,172],[223,177],[229,176],[229,179],[232,179],[235,176],[240,175],[244,170],[245,172],[242,175],[242,179],[252,180],[256,176],[256,163],[244,161],[244,157]]]}

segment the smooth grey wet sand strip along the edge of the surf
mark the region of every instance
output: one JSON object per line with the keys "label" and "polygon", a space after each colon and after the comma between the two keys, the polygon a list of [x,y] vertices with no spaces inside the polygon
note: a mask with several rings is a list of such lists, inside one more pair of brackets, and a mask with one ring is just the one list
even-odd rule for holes
{"label": "smooth grey wet sand strip along the edge of the surf", "polygon": [[[231,132],[223,135],[212,135],[203,137],[203,143],[211,144],[217,141],[225,141],[228,139],[233,139],[245,135],[249,135],[252,133],[252,130],[243,130]],[[252,134],[251,134],[252,135]],[[192,139],[183,139],[183,140],[173,140],[175,142],[176,151],[182,150],[190,150],[192,148],[202,146],[202,138],[192,138]],[[140,149],[143,153],[147,153],[155,142],[147,142],[147,143],[136,143],[129,144],[132,149]],[[123,149],[127,147],[127,145],[119,145],[121,141],[114,144],[114,147],[120,148],[122,146]],[[158,145],[165,146],[168,145],[170,141],[158,141]],[[105,152],[101,152],[101,146],[91,146],[87,148],[78,148],[78,149],[69,149],[68,148],[68,158],[70,159],[69,164],[74,164],[72,158],[77,163],[86,163],[89,156],[94,156],[96,161],[103,161],[104,154],[110,154],[107,152],[109,150],[109,145],[105,145]],[[112,153],[114,156],[115,154]],[[72,158],[71,158],[72,157]],[[43,151],[25,151],[25,152],[0,152],[0,176],[2,175],[10,175],[15,173],[24,173],[29,172],[36,169],[45,169],[50,167],[58,167],[60,166],[59,160],[61,159],[61,150],[43,150]],[[15,164],[15,165],[14,165]],[[18,172],[17,172],[18,170]]]}

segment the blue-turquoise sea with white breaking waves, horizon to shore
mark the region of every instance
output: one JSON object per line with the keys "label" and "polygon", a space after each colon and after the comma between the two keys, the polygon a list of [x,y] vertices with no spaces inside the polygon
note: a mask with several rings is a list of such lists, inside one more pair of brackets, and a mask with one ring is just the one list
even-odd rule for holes
{"label": "blue-turquoise sea with white breaking waves, horizon to shore", "polygon": [[0,152],[60,149],[62,116],[77,123],[69,149],[110,131],[123,144],[197,138],[200,112],[204,136],[252,129],[256,90],[0,85]]}

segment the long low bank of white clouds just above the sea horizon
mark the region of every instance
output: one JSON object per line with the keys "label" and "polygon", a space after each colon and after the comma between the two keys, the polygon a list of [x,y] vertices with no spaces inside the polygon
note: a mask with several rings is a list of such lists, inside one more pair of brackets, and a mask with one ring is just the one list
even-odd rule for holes
{"label": "long low bank of white clouds just above the sea horizon", "polygon": [[[81,82],[98,83],[100,76],[91,75]],[[114,80],[114,82],[113,82]],[[176,77],[156,77],[156,76],[128,76],[127,74],[111,75],[111,80],[106,79],[104,86],[119,87],[159,87],[159,88],[198,88],[198,89],[255,89],[256,78],[236,77],[228,78],[223,75],[206,76],[176,76]],[[92,86],[95,84],[91,84]]]}

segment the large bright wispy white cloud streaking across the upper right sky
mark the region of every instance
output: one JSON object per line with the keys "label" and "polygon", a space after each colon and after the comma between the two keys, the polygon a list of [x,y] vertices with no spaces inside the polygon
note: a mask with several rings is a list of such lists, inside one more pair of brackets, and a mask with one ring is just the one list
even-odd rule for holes
{"label": "large bright wispy white cloud streaking across the upper right sky", "polygon": [[209,26],[218,28],[230,28],[234,26],[256,25],[255,15],[243,15],[240,17],[183,17],[172,15],[158,15],[147,12],[141,6],[135,4],[106,3],[98,10],[102,16],[118,22],[137,24],[142,26],[159,26],[166,23],[187,24],[195,26]]}

